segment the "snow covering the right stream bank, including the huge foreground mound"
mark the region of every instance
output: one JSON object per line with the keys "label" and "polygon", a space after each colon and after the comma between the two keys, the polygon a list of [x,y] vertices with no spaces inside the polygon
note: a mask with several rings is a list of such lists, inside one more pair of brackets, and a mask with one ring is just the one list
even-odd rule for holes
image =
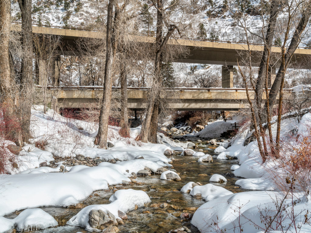
{"label": "snow covering the right stream bank, including the huge foreground mound", "polygon": [[[275,120],[272,119],[272,121]],[[302,140],[303,137],[309,137],[310,126],[310,113],[304,114],[300,121],[297,117],[284,119],[281,122],[281,139],[291,143],[290,138]],[[248,135],[248,131],[243,130],[243,128],[240,129],[238,135],[232,140],[231,146],[220,153],[217,159],[227,159],[226,156],[238,158],[240,167],[232,166],[231,169],[234,170],[235,176],[245,179],[237,180],[235,184],[247,190],[262,191],[222,195],[213,199],[195,212],[191,223],[201,232],[233,233],[243,230],[243,232],[256,233],[266,232],[267,228],[267,232],[276,230],[273,231],[274,233],[296,232],[296,230],[304,233],[311,232],[310,213],[308,212],[311,208],[310,196],[299,190],[300,186],[296,181],[295,187],[298,189],[282,202],[285,197],[282,191],[286,188],[290,190],[285,182],[287,174],[284,171],[285,168],[281,166],[283,162],[267,160],[262,163],[257,141],[243,146],[244,139]],[[276,124],[272,125],[272,134],[276,135]],[[295,141],[296,144],[297,142]],[[283,183],[285,185],[282,185]],[[196,187],[193,187],[193,190]],[[191,187],[185,187],[185,189],[189,188]],[[207,191],[208,189],[204,190],[204,195],[210,194]],[[201,191],[201,193],[204,192]],[[279,208],[281,210],[277,213]],[[276,219],[274,216],[277,216]],[[274,220],[271,221],[271,219]],[[271,226],[267,227],[270,223]]]}

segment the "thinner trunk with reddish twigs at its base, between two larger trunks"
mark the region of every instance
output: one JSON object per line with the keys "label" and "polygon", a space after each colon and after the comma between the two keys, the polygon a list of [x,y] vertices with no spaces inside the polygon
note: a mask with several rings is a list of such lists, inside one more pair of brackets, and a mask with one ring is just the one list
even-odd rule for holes
{"label": "thinner trunk with reddish twigs at its base, between two larger trunks", "polygon": [[128,137],[130,135],[130,130],[128,127],[128,84],[127,84],[127,75],[126,67],[123,62],[120,63],[120,82],[121,82],[121,114],[122,114],[122,124],[121,132],[123,137]]}

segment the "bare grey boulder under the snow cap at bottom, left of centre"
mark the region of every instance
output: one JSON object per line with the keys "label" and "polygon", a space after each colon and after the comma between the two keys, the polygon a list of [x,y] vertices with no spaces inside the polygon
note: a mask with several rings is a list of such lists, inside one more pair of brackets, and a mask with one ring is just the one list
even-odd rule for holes
{"label": "bare grey boulder under the snow cap at bottom, left of centre", "polygon": [[118,222],[114,215],[107,210],[91,210],[89,213],[89,223],[92,228],[103,230],[108,226],[116,226]]}

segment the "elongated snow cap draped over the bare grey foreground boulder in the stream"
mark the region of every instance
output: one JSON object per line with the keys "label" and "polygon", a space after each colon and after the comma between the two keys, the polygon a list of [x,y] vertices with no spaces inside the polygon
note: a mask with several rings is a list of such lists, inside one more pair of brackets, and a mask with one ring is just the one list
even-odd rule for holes
{"label": "elongated snow cap draped over the bare grey foreground boulder in the stream", "polygon": [[82,226],[87,231],[93,231],[89,224],[89,213],[91,210],[102,210],[107,213],[107,210],[118,217],[118,210],[128,212],[135,208],[144,206],[145,203],[151,202],[148,195],[142,190],[117,190],[110,198],[110,204],[105,205],[90,205],[83,208],[74,217],[72,217],[67,224],[71,226]]}

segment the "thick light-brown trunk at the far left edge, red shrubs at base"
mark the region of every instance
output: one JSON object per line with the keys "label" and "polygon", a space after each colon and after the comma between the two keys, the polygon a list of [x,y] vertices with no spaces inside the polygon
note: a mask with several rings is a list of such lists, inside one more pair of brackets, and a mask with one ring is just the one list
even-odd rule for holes
{"label": "thick light-brown trunk at the far left edge, red shrubs at base", "polygon": [[0,4],[0,108],[5,123],[5,137],[19,146],[23,146],[19,121],[16,118],[18,103],[15,81],[11,74],[9,39],[11,23],[11,1],[3,0]]}

